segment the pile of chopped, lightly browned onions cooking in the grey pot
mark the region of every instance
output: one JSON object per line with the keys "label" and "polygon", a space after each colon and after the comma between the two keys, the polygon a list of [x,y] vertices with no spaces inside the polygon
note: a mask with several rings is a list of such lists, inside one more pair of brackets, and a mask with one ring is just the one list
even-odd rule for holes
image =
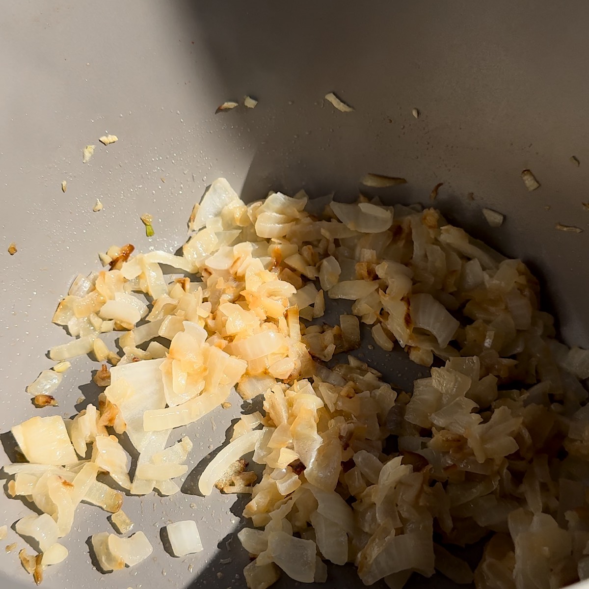
{"label": "pile of chopped, lightly browned onions cooking in the grey pot", "polygon": [[[5,466],[9,494],[41,512],[16,524],[37,551],[21,551],[35,581],[67,556],[60,542],[80,502],[112,514],[121,534],[133,527],[123,493],[98,474],[130,495],[180,491],[193,444],[168,445],[173,429],[225,406],[232,389],[261,396],[263,412],[233,426],[198,487],[251,495],[253,528],[238,534],[251,589],[281,571],[326,581],[325,562],[353,562],[363,583],[396,589],[436,570],[479,589],[589,577],[589,351],[554,339],[521,261],[438,211],[365,197],[322,206],[305,193],[246,204],[216,180],[182,256],[112,246],[101,254],[108,269],[74,280],[54,315],[74,339],[50,350],[59,363],[28,392],[53,398],[67,360],[87,353],[103,363],[104,392],[72,419],[15,425],[28,462]],[[162,264],[198,279],[170,280]],[[337,325],[321,321],[329,299],[350,302]],[[430,375],[405,392],[355,356],[336,357],[359,348],[362,324]],[[124,332],[122,356],[101,337],[112,330]],[[124,434],[138,454],[133,477]],[[252,452],[261,478],[247,470]],[[169,525],[168,537],[177,555],[202,548],[193,521]],[[482,538],[472,571],[452,546]],[[103,571],[151,554],[143,532],[101,532],[92,547]]]}

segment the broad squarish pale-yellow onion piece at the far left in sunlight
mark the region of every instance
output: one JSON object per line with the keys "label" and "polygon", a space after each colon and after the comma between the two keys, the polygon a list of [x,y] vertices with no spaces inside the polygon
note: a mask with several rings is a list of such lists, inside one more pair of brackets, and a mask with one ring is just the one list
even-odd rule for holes
{"label": "broad squarish pale-yellow onion piece at the far left in sunlight", "polygon": [[60,415],[33,417],[11,431],[29,462],[58,466],[78,461]]}

